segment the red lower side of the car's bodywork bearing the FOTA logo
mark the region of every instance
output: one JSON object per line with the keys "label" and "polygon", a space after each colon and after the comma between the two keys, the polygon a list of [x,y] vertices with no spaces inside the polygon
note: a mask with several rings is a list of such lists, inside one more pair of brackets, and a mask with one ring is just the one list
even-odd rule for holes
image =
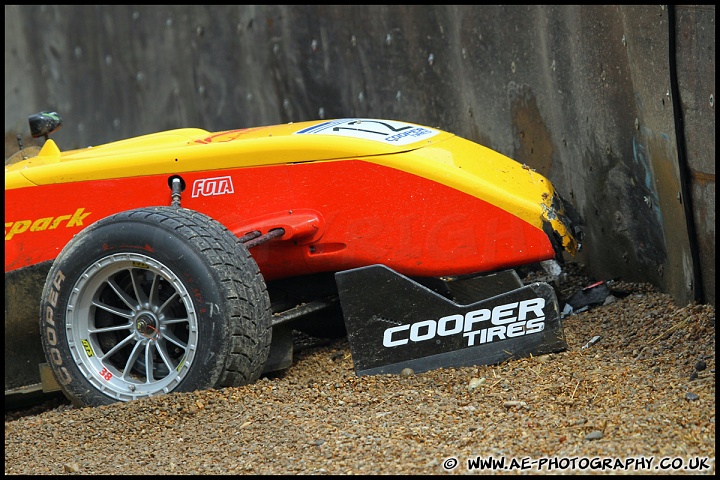
{"label": "red lower side of the car's bodywork bearing the FOTA logo", "polygon": [[[252,249],[268,280],[374,263],[408,275],[458,275],[555,256],[542,230],[508,211],[363,160],[188,172],[183,180],[182,206],[238,236],[285,230]],[[153,175],[6,191],[5,271],[54,259],[108,215],[169,205],[167,183]]]}

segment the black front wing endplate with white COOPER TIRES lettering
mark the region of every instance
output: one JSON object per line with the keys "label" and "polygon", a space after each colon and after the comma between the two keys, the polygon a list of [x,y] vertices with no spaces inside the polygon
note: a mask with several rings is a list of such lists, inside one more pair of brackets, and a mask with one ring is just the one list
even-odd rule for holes
{"label": "black front wing endplate with white COOPER TIRES lettering", "polygon": [[[338,272],[335,281],[357,375],[493,365],[567,349],[553,288],[522,286],[512,271],[448,281],[453,300],[384,265]],[[498,285],[507,290],[498,293]]]}

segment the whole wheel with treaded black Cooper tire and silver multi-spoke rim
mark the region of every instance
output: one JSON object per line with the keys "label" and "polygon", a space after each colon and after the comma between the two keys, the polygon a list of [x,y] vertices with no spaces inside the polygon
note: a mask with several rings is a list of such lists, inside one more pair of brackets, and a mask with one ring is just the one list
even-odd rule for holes
{"label": "whole wheel with treaded black Cooper tire and silver multi-spoke rim", "polygon": [[267,287],[219,222],[178,207],[106,217],[53,262],[42,346],[76,406],[252,383],[272,337]]}

